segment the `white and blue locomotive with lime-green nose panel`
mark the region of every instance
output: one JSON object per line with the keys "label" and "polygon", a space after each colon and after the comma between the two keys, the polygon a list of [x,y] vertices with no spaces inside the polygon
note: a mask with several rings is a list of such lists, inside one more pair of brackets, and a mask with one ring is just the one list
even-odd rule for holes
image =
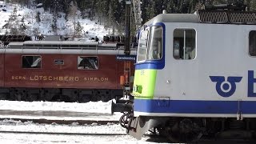
{"label": "white and blue locomotive with lime-green nose panel", "polygon": [[256,13],[198,10],[159,14],[142,26],[128,134],[172,142],[202,135],[254,137]]}

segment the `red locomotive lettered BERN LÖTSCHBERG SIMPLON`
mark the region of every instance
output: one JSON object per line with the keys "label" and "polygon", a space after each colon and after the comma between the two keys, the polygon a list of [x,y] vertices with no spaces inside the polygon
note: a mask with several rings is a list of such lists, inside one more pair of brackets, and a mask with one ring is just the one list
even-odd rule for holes
{"label": "red locomotive lettered BERN L\u00d6TSCHBERG SIMPLON", "polygon": [[[0,99],[106,102],[121,98],[120,77],[127,74],[120,61],[127,58],[122,56],[124,49],[116,43],[10,42],[0,49]],[[134,61],[130,62],[129,77],[134,74]]]}

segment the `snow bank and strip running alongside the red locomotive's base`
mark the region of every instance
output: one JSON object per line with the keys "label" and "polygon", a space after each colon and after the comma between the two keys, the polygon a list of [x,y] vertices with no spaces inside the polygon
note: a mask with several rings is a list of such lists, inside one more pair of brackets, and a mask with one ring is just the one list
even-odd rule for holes
{"label": "snow bank and strip running alongside the red locomotive's base", "polygon": [[[30,118],[30,119],[49,119],[49,120],[112,120],[118,121],[122,113],[111,115],[111,102],[18,102],[18,101],[0,101],[0,112],[3,110],[28,111],[27,114],[12,113],[6,115],[0,113],[0,118]],[[34,115],[30,111],[38,112],[41,115]],[[56,114],[58,116],[47,115],[44,112]],[[69,114],[66,114],[66,111]],[[72,114],[75,114],[73,115]],[[71,116],[70,116],[71,113]],[[66,115],[65,115],[66,114]],[[98,117],[98,114],[102,114]]]}

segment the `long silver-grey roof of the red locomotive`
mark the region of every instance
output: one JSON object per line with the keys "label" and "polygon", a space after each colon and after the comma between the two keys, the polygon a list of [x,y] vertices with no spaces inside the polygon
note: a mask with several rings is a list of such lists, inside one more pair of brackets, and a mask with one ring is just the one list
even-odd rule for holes
{"label": "long silver-grey roof of the red locomotive", "polygon": [[[26,41],[0,47],[1,54],[124,54],[124,46],[116,42]],[[130,54],[136,53],[137,49],[131,48]]]}

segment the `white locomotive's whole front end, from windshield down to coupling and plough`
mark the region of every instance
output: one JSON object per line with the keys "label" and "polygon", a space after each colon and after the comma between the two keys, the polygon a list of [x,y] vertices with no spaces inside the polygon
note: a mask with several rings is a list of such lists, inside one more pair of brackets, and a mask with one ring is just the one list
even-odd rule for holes
{"label": "white locomotive's whole front end, from windshield down to coupling and plough", "polygon": [[[155,90],[158,70],[162,70],[165,66],[164,34],[165,25],[162,22],[145,25],[140,33],[134,86],[131,94],[134,96],[134,107],[131,114],[124,114],[124,117],[121,118],[124,120],[122,122],[126,122],[121,123],[122,126],[126,127],[127,132],[134,138],[142,138],[142,135],[149,130],[149,126],[156,126],[158,122],[161,122],[161,120],[151,119],[149,116],[154,113],[154,104],[158,102],[155,101],[158,97]],[[138,122],[142,125],[138,126]]]}

